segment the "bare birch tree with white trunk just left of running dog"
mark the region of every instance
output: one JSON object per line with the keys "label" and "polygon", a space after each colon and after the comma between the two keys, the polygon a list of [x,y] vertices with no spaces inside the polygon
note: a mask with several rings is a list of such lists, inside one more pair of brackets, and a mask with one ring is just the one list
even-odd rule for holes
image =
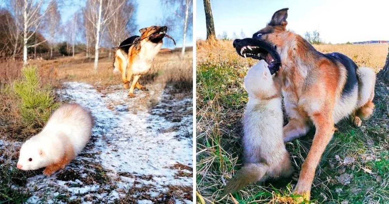
{"label": "bare birch tree with white trunk just left of running dog", "polygon": [[[117,7],[113,7],[114,2],[118,3]],[[124,4],[122,0],[88,0],[87,8],[89,11],[85,17],[93,24],[95,34],[95,64],[93,69],[97,71],[98,68],[98,56],[102,33],[105,31],[105,25],[107,21],[119,10]]]}

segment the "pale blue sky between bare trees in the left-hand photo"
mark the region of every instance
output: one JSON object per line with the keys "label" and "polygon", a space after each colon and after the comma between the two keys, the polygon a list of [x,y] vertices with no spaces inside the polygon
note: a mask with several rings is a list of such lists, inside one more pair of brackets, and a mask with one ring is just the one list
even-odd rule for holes
{"label": "pale blue sky between bare trees in the left-hand photo", "polygon": [[[85,6],[86,1],[78,0],[64,0],[64,6],[61,7],[61,18],[62,22],[66,22],[75,11]],[[159,24],[163,17],[163,8],[161,7],[160,0],[138,0],[138,10],[137,10],[137,25],[138,29]],[[188,32],[193,32],[192,30]],[[169,33],[177,41],[176,47],[182,47],[182,36],[180,33]],[[139,33],[133,33],[133,35],[139,35]],[[179,35],[179,36],[177,36]],[[130,37],[130,36],[129,36]],[[186,46],[192,46],[193,40],[192,36],[186,38]],[[124,39],[123,39],[124,40]],[[165,41],[170,41],[166,39]],[[169,45],[169,46],[167,46]],[[164,45],[164,47],[174,48],[172,43]]]}

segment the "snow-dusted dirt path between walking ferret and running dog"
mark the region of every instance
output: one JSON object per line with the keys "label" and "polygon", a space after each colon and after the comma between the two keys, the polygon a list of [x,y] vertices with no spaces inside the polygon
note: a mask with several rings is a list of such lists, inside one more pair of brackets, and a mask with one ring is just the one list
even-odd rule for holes
{"label": "snow-dusted dirt path between walking ferret and running dog", "polygon": [[129,99],[119,86],[65,83],[60,98],[95,118],[92,139],[64,170],[29,178],[28,202],[192,203],[193,101],[149,89]]}

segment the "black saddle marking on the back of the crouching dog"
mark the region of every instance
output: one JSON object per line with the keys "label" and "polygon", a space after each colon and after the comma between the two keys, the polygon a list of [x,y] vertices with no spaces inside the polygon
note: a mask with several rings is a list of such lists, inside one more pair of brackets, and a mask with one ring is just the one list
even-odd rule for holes
{"label": "black saddle marking on the back of the crouching dog", "polygon": [[342,63],[342,65],[346,68],[347,81],[343,87],[342,97],[348,96],[349,94],[351,94],[355,86],[358,86],[358,78],[356,73],[358,66],[354,63],[354,61],[352,61],[352,59],[348,58],[347,56],[339,52],[328,53],[325,54],[325,56],[329,58],[331,61],[335,60]]}

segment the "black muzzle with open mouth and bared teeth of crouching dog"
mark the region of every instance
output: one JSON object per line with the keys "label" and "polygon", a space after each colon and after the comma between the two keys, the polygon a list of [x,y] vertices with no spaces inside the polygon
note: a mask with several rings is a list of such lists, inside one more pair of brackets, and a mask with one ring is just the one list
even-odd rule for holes
{"label": "black muzzle with open mouth and bared teeth of crouching dog", "polygon": [[253,38],[237,39],[233,46],[237,53],[244,58],[253,58],[258,60],[265,60],[268,63],[270,73],[273,74],[280,68],[280,56],[273,48],[274,46],[263,40]]}

